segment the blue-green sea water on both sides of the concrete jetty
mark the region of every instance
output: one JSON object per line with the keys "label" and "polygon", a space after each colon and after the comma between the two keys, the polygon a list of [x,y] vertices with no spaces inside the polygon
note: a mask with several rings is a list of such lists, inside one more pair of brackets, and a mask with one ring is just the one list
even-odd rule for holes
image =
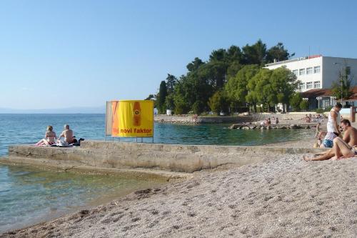
{"label": "blue-green sea water on both sides of the concrete jetty", "polygon": [[[154,138],[106,137],[104,114],[0,114],[0,157],[11,144],[34,144],[51,125],[57,135],[69,124],[76,138],[109,142],[261,145],[311,137],[311,130],[233,130],[230,124],[154,124]],[[0,164],[0,234],[101,204],[163,181],[53,172]]]}

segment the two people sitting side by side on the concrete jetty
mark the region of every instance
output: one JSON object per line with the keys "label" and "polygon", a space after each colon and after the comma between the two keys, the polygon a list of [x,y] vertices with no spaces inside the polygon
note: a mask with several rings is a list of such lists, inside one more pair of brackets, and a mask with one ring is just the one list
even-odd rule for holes
{"label": "two people sitting side by side on the concrete jetty", "polygon": [[64,142],[68,144],[76,143],[76,137],[74,137],[74,133],[71,129],[69,129],[69,125],[64,125],[64,131],[59,135],[59,138],[56,137],[56,132],[54,132],[54,127],[48,126],[44,139],[41,139],[37,142],[36,146],[51,146],[61,141],[61,138],[64,137]]}

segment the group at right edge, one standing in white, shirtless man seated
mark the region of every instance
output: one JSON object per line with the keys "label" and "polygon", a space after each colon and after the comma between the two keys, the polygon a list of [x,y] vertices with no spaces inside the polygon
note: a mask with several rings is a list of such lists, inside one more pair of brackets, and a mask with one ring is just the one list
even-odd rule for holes
{"label": "group at right edge, one standing in white, shirtless man seated", "polygon": [[[321,154],[316,154],[315,157],[303,157],[304,160],[347,159],[357,155],[357,129],[351,126],[351,122],[348,119],[341,120],[341,109],[342,105],[338,103],[328,114],[327,132],[321,147],[331,149]],[[341,132],[343,132],[343,137]],[[321,139],[321,133],[318,134],[318,137]]]}

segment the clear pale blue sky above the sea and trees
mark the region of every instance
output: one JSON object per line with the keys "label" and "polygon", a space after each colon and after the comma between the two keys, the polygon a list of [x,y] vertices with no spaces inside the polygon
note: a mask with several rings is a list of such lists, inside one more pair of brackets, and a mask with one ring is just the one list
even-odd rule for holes
{"label": "clear pale blue sky above the sea and trees", "polygon": [[357,58],[357,1],[0,1],[0,108],[104,106],[156,94],[214,49],[282,42]]}

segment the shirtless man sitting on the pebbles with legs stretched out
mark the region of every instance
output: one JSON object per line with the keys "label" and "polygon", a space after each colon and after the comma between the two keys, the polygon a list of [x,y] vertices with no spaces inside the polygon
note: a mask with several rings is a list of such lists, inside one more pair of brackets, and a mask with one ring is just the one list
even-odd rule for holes
{"label": "shirtless man sitting on the pebbles with legs stretched out", "polygon": [[341,127],[344,131],[343,139],[336,137],[333,139],[333,147],[327,152],[323,153],[319,157],[303,157],[306,161],[318,161],[326,159],[341,159],[351,158],[357,154],[356,144],[357,144],[357,129],[351,127],[351,122],[348,119],[343,119],[341,121]]}

